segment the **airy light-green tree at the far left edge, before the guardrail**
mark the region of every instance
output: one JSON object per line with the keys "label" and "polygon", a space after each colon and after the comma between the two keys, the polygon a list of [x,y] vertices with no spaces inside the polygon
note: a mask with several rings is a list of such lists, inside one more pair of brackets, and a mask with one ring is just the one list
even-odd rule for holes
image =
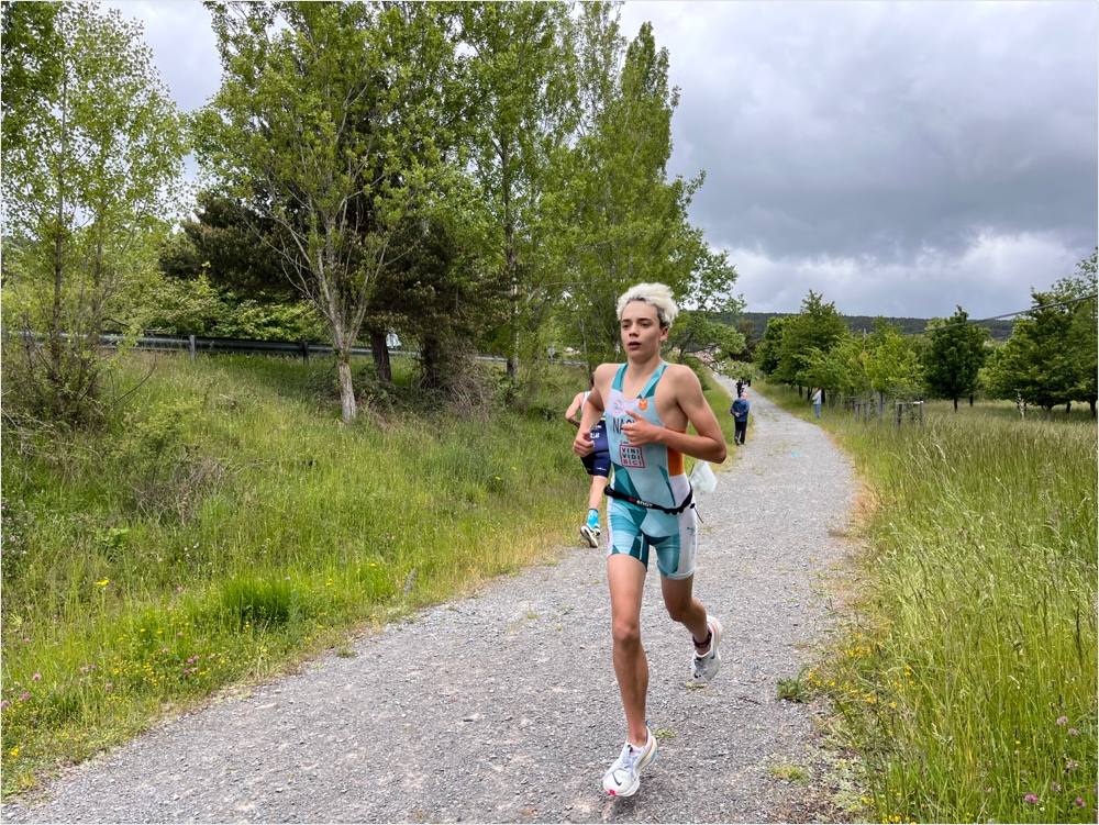
{"label": "airy light-green tree at the far left edge, before the guardrail", "polygon": [[[185,138],[136,23],[80,3],[31,24],[26,15],[40,11],[4,10],[13,38],[4,80],[22,78],[11,110],[4,91],[5,292],[21,323],[46,338],[44,350],[26,339],[21,400],[77,422],[98,392],[104,324],[153,271],[176,210]],[[9,129],[19,131],[11,141]]]}

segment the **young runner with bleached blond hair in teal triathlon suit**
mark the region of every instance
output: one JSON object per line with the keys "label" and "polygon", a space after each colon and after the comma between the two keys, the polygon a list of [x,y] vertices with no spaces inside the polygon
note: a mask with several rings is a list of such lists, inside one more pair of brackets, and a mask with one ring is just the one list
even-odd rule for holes
{"label": "young runner with bleached blond hair in teal triathlon suit", "polygon": [[[641,644],[650,550],[656,553],[668,615],[693,642],[691,678],[707,682],[721,667],[721,623],[692,595],[698,521],[684,455],[720,464],[725,460],[725,439],[698,376],[660,358],[677,313],[671,290],[663,283],[639,283],[619,298],[626,363],[596,369],[573,444],[578,455],[589,455],[595,449],[591,431],[603,416],[614,466],[614,481],[607,488],[607,581],[614,673],[626,722],[625,745],[603,774],[603,790],[612,796],[636,793],[641,771],[656,756],[656,737],[645,721],[648,661]],[[688,424],[698,435],[687,434]],[[696,776],[704,788],[702,766]]]}

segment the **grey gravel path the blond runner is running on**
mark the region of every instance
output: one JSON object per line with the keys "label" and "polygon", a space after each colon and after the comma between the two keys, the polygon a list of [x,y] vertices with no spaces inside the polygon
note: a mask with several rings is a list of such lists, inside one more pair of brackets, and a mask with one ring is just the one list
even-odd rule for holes
{"label": "grey gravel path the blond runner is running on", "polygon": [[[753,430],[699,499],[696,593],[724,669],[689,690],[690,645],[642,616],[659,758],[631,799],[600,778],[624,736],[602,550],[569,549],[362,638],[298,676],[166,723],[69,771],[7,822],[775,822],[825,815],[778,779],[814,761],[812,711],[776,699],[826,621],[814,584],[845,554],[848,462],[752,392]],[[728,414],[718,411],[719,414]],[[577,501],[577,515],[581,502]]]}

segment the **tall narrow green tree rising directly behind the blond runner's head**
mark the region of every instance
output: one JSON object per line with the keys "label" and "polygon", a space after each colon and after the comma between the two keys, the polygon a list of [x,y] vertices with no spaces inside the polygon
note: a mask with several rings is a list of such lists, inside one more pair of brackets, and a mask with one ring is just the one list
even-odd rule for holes
{"label": "tall narrow green tree rising directly behind the blond runner's head", "polygon": [[731,297],[736,271],[726,255],[710,249],[688,220],[704,176],[668,180],[679,91],[668,82],[667,49],[657,48],[647,23],[628,42],[618,7],[599,2],[581,5],[574,43],[581,115],[560,325],[595,365],[618,345],[615,301],[633,283],[667,283],[700,312],[735,314],[742,304]]}

